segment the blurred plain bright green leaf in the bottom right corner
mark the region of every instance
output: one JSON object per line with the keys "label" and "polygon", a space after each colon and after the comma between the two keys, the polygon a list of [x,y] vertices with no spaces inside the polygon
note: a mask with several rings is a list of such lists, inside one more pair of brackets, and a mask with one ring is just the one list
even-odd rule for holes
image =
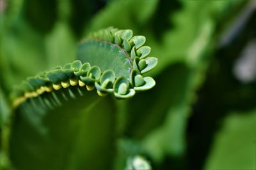
{"label": "blurred plain bright green leaf in the bottom right corner", "polygon": [[216,133],[204,169],[254,169],[255,129],[256,110],[230,113]]}

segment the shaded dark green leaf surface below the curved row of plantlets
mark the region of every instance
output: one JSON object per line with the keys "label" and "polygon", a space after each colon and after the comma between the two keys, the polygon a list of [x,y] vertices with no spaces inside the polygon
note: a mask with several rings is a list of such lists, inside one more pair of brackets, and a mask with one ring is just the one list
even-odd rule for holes
{"label": "shaded dark green leaf surface below the curved row of plantlets", "polygon": [[113,99],[80,88],[82,97],[77,90],[54,92],[61,107],[47,107],[48,99],[58,103],[51,92],[15,111],[10,158],[17,169],[110,169],[115,155]]}

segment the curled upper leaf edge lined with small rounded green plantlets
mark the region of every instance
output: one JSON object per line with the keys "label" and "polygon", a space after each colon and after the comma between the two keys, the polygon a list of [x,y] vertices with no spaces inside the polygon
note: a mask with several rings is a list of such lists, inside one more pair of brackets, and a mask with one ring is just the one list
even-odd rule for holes
{"label": "curled upper leaf edge lined with small rounded green plantlets", "polygon": [[[93,32],[79,44],[78,60],[29,77],[13,90],[13,107],[45,92],[69,87],[96,89],[99,96],[113,94],[117,99],[151,89],[156,82],[143,74],[156,66],[157,58],[148,57],[151,48],[143,46],[144,36],[132,34],[129,29],[113,27]],[[54,100],[58,103],[56,97]]]}

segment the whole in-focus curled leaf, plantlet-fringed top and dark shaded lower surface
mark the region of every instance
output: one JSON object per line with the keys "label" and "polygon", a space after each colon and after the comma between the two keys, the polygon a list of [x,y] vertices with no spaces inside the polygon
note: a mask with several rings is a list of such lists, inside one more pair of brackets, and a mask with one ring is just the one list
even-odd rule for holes
{"label": "whole in-focus curled leaf, plantlet-fringed top and dark shaded lower surface", "polygon": [[[64,67],[58,66],[51,71],[40,73],[40,80],[46,81],[45,87],[41,81],[37,81],[38,77],[28,78],[22,83],[23,93],[21,96],[15,95],[17,98],[13,101],[17,117],[13,120],[10,158],[15,167],[35,169],[41,165],[42,169],[109,169],[112,166],[114,152],[111,151],[115,150],[116,132],[113,123],[113,97],[103,97],[103,103],[98,105],[99,96],[109,92],[113,92],[117,99],[134,96],[135,90],[130,86],[129,78],[134,79],[134,85],[137,87],[143,87],[145,83],[146,89],[154,86],[154,80],[143,78],[139,71],[136,71],[135,77],[130,76],[132,61],[125,46],[103,41],[109,39],[108,35],[114,37],[112,29],[100,30],[94,34],[97,39],[89,37],[83,41],[82,47],[79,48],[79,57],[88,62],[82,64],[80,60],[75,60]],[[130,30],[116,31],[114,34],[120,34],[122,41],[132,37]],[[151,58],[146,58],[144,65],[147,65],[147,59]],[[135,59],[137,62],[134,63],[137,65],[140,59]],[[93,63],[95,66],[91,67]],[[141,64],[139,65],[141,67]],[[122,76],[116,78],[115,74]],[[95,87],[99,96],[95,92],[88,92]],[[74,119],[78,122],[74,123]],[[102,125],[106,125],[103,127],[104,131]],[[26,134],[23,135],[21,131],[26,131]],[[63,143],[60,144],[60,141]],[[54,153],[49,156],[52,150]],[[108,154],[99,157],[102,150]],[[40,155],[36,155],[37,153]],[[19,159],[21,154],[24,159]],[[58,158],[53,159],[54,157]],[[86,161],[82,161],[84,159]],[[97,165],[94,164],[95,159],[100,159]],[[33,164],[28,164],[30,161]]]}

